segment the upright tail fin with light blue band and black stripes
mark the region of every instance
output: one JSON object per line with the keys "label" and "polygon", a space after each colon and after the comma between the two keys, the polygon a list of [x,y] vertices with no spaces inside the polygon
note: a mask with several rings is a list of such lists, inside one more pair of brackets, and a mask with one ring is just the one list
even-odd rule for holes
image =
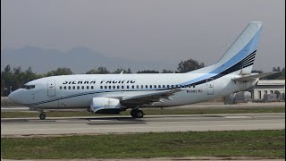
{"label": "upright tail fin with light blue band and black stripes", "polygon": [[261,21],[249,22],[248,26],[240,34],[240,37],[236,39],[223,57],[214,64],[213,72],[251,73],[262,26]]}

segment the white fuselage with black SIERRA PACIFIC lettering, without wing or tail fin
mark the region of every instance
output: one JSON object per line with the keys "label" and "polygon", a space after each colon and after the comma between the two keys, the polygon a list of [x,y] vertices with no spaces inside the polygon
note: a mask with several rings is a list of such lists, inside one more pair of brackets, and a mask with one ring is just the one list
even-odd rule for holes
{"label": "white fuselage with black SIERRA PACIFIC lettering, without wing or tail fin", "polygon": [[191,81],[206,73],[160,74],[79,74],[46,77],[29,81],[34,89],[18,89],[13,100],[37,108],[88,108],[93,97],[122,98],[149,94],[164,89],[181,89],[162,102],[143,106],[183,106],[215,97],[223,97],[235,91],[248,89],[256,81],[234,82],[237,74],[227,74],[215,80]]}

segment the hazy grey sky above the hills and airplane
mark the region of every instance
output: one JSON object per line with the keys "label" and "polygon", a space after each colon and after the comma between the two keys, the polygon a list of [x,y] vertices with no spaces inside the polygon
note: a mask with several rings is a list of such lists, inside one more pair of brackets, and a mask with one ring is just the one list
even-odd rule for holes
{"label": "hazy grey sky above the hills and airplane", "polygon": [[214,64],[248,21],[265,24],[254,68],[285,66],[284,0],[1,0],[1,48]]}

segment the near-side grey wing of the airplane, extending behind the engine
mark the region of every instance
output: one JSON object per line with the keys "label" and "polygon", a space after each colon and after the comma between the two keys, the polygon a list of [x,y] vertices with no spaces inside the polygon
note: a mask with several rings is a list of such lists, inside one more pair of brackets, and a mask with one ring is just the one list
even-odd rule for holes
{"label": "near-side grey wing of the airplane, extending behind the engine", "polygon": [[154,104],[158,102],[163,102],[160,100],[161,98],[172,100],[170,96],[179,91],[181,91],[181,89],[168,89],[156,93],[148,93],[131,97],[122,97],[121,103],[122,105],[126,106],[140,106],[144,104]]}

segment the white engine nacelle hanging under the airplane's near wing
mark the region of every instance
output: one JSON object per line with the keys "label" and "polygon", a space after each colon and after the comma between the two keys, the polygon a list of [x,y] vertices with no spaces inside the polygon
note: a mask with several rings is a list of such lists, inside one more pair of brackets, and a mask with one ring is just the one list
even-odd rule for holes
{"label": "white engine nacelle hanging under the airplane's near wing", "polygon": [[95,114],[119,114],[121,111],[120,100],[110,97],[93,97],[90,112]]}

